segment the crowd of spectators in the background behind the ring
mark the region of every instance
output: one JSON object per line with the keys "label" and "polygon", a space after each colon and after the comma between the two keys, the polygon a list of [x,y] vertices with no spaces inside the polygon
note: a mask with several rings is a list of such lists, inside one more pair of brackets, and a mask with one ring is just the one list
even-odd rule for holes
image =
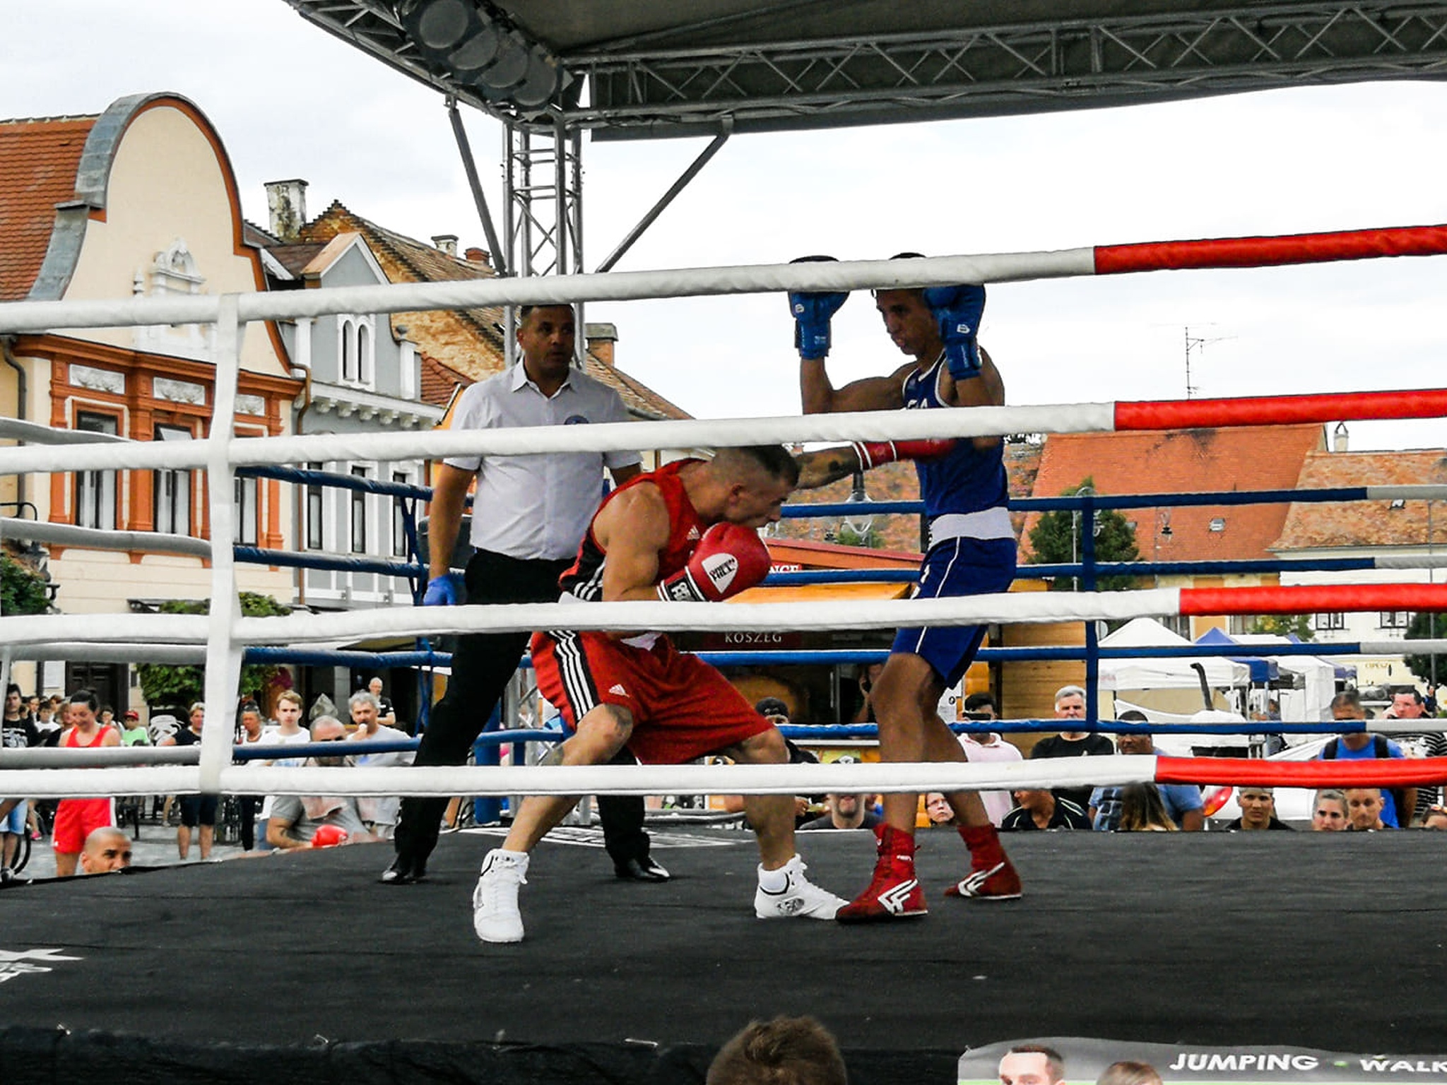
{"label": "crowd of spectators in the background behind the ring", "polygon": [[[860,718],[871,715],[868,699],[873,676],[860,674],[860,689],[864,703]],[[370,741],[396,742],[407,739],[405,729],[398,726],[396,712],[389,699],[382,694],[382,680],[372,678],[366,689],[356,690],[347,700],[349,722],[337,718],[336,709],[326,697],[311,710],[310,731],[301,726],[304,715],[302,699],[295,692],[284,692],[275,697],[273,719],[266,719],[255,702],[245,702],[236,716],[234,741],[239,746],[279,746],[305,742]],[[760,703],[783,712],[787,709],[773,699]],[[1420,719],[1428,716],[1435,706],[1415,689],[1393,694],[1386,716],[1392,719]],[[988,693],[975,693],[965,700],[965,712],[971,719],[998,719],[998,705]],[[1347,689],[1331,702],[1337,720],[1365,720],[1367,713],[1356,690]],[[1149,755],[1155,745],[1149,735],[1121,733],[1111,741],[1108,735],[1079,731],[1071,720],[1084,719],[1085,692],[1078,686],[1065,686],[1055,694],[1055,716],[1062,720],[1059,735],[1036,742],[1030,760]],[[1146,722],[1139,712],[1126,712],[1121,722]],[[169,720],[169,723],[168,723]],[[139,746],[139,745],[194,745],[200,742],[205,722],[205,706],[192,705],[187,726],[172,716],[156,715],[148,728],[135,709],[116,713],[114,707],[101,705],[90,690],[77,690],[65,697],[29,696],[19,686],[6,689],[4,718],[0,725],[0,745],[9,749],[61,746]],[[1347,732],[1330,739],[1320,757],[1323,760],[1382,760],[1408,755],[1447,755],[1447,739],[1441,732],[1424,731],[1420,735],[1402,735],[1404,741],[1388,739],[1369,731]],[[961,745],[971,762],[1019,761],[1020,749],[1000,733],[972,733],[961,736]],[[1411,752],[1408,745],[1411,745]],[[411,764],[412,752],[386,751],[356,755],[310,758],[243,760],[249,765],[398,765]],[[807,751],[800,751],[797,760],[812,760]],[[1111,787],[1020,788],[1014,791],[984,791],[983,800],[993,823],[1004,830],[1098,830],[1098,832],[1200,832],[1205,827],[1205,809],[1201,788],[1191,784],[1127,784]],[[159,797],[158,797],[159,799]],[[1447,807],[1440,804],[1441,788],[1437,786],[1406,788],[1324,788],[1315,793],[1311,807],[1310,829],[1315,832],[1375,832],[1398,827],[1447,829]],[[1278,816],[1275,788],[1244,786],[1236,788],[1240,816],[1220,827],[1231,832],[1291,830]],[[878,825],[878,796],[865,793],[831,793],[823,797],[800,797],[800,829],[873,829]],[[169,812],[172,797],[165,800]],[[200,843],[200,856],[211,856],[216,841],[218,801],[216,796],[179,796],[179,826],[177,827],[177,852],[184,861],[190,858],[191,843]],[[347,797],[347,796],[263,796],[240,794],[234,797],[234,819],[237,820],[242,851],[295,849],[302,846],[330,845],[357,841],[389,839],[398,820],[396,797]],[[929,825],[952,825],[954,810],[939,793],[923,797],[923,820]],[[54,823],[54,827],[52,827]],[[130,848],[122,846],[123,832],[116,827],[114,803],[109,799],[64,799],[59,803],[27,803],[25,800],[0,803],[0,880],[6,878],[14,862],[25,835],[32,841],[52,836],[56,854],[56,872],[61,877],[77,872],[120,869],[130,862]],[[1305,827],[1305,826],[1302,826]],[[94,846],[93,846],[94,845]]]}

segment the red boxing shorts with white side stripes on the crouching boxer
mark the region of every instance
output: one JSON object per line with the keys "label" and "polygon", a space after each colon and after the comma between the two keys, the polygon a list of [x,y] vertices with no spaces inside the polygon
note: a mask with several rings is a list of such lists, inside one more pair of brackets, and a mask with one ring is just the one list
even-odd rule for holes
{"label": "red boxing shorts with white side stripes on the crouching boxer", "polygon": [[628,749],[647,765],[682,765],[773,726],[722,674],[667,637],[635,648],[601,632],[540,632],[532,668],[569,731],[599,705],[628,709]]}

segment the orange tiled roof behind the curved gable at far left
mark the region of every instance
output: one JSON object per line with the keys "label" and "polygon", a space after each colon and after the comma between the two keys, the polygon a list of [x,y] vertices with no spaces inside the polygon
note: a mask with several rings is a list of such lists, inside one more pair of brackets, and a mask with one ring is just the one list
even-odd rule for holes
{"label": "orange tiled roof behind the curved gable at far left", "polygon": [[0,120],[0,301],[30,292],[96,117]]}

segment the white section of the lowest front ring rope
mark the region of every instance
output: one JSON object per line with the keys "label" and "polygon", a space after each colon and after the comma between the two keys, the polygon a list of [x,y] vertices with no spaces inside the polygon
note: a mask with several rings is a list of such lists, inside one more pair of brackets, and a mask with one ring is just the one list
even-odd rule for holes
{"label": "white section of the lowest front ring rope", "polygon": [[[1139,784],[1156,758],[1048,758],[1010,764],[861,762],[852,765],[425,765],[392,768],[221,770],[223,794],[502,796],[502,794],[822,794],[825,791],[961,791]],[[78,794],[194,794],[195,768],[10,770],[0,790],[35,799]]]}

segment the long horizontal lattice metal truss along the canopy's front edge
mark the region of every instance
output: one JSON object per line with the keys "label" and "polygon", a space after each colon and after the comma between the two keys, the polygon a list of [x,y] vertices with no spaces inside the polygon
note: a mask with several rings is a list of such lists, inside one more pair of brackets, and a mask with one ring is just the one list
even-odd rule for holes
{"label": "long horizontal lattice metal truss along the canopy's front edge", "polygon": [[735,132],[823,127],[1444,78],[1447,4],[1252,4],[564,62],[590,90],[566,123],[602,137],[695,135],[722,117]]}

